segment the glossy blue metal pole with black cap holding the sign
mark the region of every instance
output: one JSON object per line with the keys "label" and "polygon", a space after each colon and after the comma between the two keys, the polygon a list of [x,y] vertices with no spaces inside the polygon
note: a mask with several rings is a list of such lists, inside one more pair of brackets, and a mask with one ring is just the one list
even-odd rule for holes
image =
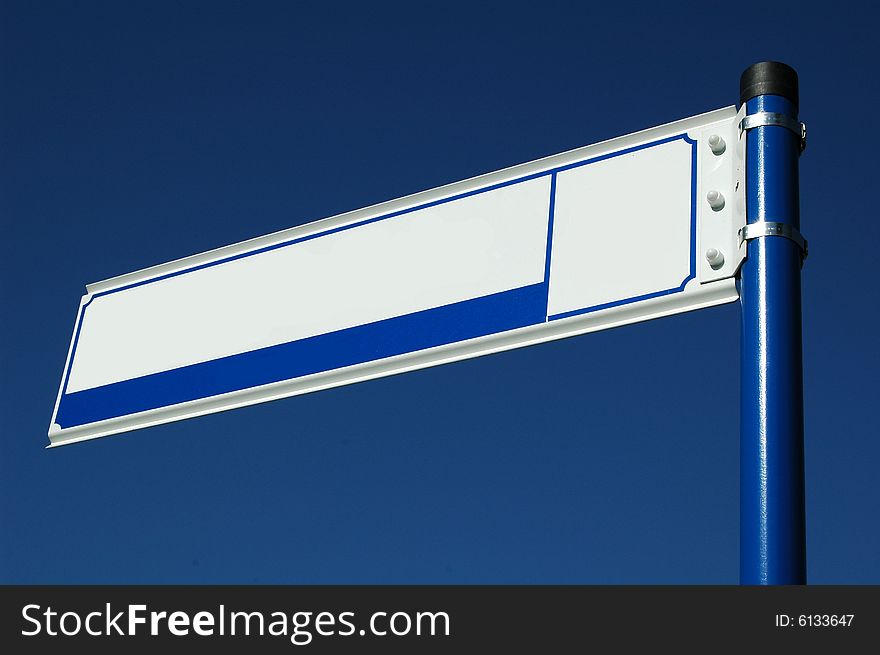
{"label": "glossy blue metal pole with black cap holding the sign", "polygon": [[[770,123],[746,132],[747,222],[799,235],[801,138],[767,114],[798,124],[797,73],[777,62],[749,67],[740,102],[756,125]],[[805,584],[802,250],[761,232],[750,234],[740,273],[740,583]]]}

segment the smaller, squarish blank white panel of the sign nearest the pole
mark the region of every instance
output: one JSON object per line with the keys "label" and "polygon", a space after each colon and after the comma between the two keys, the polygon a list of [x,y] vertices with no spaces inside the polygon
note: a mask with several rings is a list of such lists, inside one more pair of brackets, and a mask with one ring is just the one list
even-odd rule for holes
{"label": "smaller, squarish blank white panel of the sign nearest the pole", "polygon": [[[551,316],[685,283],[693,252],[692,154],[676,139],[558,174]],[[651,275],[641,262],[651,262]]]}

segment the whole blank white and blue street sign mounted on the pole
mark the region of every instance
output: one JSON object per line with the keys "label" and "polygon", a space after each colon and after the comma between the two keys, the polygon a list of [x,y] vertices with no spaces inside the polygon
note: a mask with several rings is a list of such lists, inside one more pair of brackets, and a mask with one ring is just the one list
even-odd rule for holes
{"label": "whole blank white and blue street sign mounted on the pole", "polygon": [[87,286],[53,446],[737,298],[733,107]]}

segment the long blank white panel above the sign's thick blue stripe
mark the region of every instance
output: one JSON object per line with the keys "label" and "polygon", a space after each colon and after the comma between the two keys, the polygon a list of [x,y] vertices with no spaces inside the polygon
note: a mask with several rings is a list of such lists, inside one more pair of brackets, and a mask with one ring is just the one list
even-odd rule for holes
{"label": "long blank white panel above the sign's thick blue stripe", "polygon": [[96,297],[68,391],[537,284],[549,198],[538,178]]}

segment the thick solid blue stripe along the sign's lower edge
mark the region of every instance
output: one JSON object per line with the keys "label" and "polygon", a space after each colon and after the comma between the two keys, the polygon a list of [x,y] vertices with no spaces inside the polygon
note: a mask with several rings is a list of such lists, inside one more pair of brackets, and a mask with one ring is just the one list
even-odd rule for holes
{"label": "thick solid blue stripe along the sign's lower edge", "polygon": [[465,300],[61,398],[69,428],[513,330],[546,319],[547,284]]}

